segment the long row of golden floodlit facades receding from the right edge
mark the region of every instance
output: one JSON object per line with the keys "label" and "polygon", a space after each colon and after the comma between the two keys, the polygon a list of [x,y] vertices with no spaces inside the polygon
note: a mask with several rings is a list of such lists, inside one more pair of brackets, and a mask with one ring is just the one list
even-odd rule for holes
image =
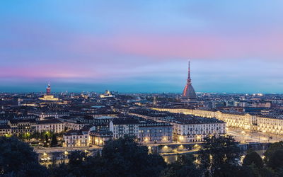
{"label": "long row of golden floodlit facades receding from the right edge", "polygon": [[227,127],[241,127],[246,130],[269,132],[275,135],[283,135],[283,119],[278,116],[264,116],[253,113],[229,113],[219,110],[200,110],[183,108],[152,108],[158,111],[170,113],[183,113],[196,115],[203,118],[216,118],[226,122]]}

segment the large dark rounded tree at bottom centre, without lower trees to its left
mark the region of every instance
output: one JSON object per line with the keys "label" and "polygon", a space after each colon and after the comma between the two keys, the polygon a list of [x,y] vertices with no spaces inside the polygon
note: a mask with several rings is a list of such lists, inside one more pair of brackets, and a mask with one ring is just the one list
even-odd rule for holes
{"label": "large dark rounded tree at bottom centre, without lower trees to its left", "polygon": [[106,161],[109,176],[159,176],[166,167],[158,154],[149,154],[132,137],[115,139],[105,144],[101,157]]}

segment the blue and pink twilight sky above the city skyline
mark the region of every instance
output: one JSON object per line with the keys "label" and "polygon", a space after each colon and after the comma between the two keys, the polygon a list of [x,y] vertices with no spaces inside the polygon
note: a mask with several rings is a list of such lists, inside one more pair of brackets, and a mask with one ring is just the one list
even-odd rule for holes
{"label": "blue and pink twilight sky above the city skyline", "polygon": [[282,0],[6,0],[0,91],[283,93]]}

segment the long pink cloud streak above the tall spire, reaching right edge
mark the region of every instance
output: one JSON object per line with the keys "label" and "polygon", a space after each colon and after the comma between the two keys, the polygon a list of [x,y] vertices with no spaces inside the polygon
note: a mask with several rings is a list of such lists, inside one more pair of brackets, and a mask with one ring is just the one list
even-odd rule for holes
{"label": "long pink cloud streak above the tall spire, reaching right edge", "polygon": [[118,37],[112,41],[117,51],[150,57],[192,57],[223,59],[236,57],[283,57],[283,35],[255,36],[156,36]]}

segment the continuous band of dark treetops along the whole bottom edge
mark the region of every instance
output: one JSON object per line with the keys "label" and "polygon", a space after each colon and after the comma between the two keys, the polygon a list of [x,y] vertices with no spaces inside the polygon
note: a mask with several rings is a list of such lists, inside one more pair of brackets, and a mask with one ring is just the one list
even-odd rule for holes
{"label": "continuous band of dark treetops along the whole bottom edge", "polygon": [[[55,140],[54,140],[55,141]],[[272,144],[265,152],[267,159],[253,150],[242,155],[232,137],[207,137],[200,152],[182,155],[173,164],[166,164],[158,154],[149,154],[131,137],[105,144],[101,154],[85,152],[69,154],[69,163],[40,166],[33,149],[15,137],[0,137],[0,176],[283,176],[283,142]]]}

